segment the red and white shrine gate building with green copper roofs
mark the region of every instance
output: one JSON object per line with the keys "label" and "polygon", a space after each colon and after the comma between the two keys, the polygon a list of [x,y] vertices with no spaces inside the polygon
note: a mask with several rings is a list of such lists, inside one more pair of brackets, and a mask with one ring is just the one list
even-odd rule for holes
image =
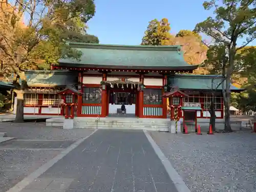
{"label": "red and white shrine gate building with green copper roofs", "polygon": [[[69,45],[82,53],[79,60],[60,59],[51,70],[25,72],[24,114],[108,117],[118,115],[124,104],[125,117],[173,118],[174,105],[179,118],[185,110],[194,110],[196,118],[210,117],[211,90],[222,76],[191,74],[198,66],[184,61],[180,46]],[[183,94],[180,101],[163,97],[177,91]],[[223,119],[222,86],[215,109]]]}

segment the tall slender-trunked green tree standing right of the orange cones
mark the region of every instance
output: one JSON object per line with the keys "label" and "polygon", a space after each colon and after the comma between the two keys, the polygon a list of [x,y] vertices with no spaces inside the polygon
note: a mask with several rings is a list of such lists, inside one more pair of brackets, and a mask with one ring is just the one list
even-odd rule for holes
{"label": "tall slender-trunked green tree standing right of the orange cones", "polygon": [[[225,131],[230,132],[232,131],[229,112],[231,76],[237,51],[256,38],[256,2],[254,0],[210,0],[204,2],[203,6],[205,10],[214,9],[215,17],[208,17],[197,24],[195,31],[203,32],[215,41],[212,49],[218,54],[211,54],[211,58],[214,61],[221,61],[222,74],[226,79],[223,86]],[[241,46],[237,45],[239,38],[245,39]]]}

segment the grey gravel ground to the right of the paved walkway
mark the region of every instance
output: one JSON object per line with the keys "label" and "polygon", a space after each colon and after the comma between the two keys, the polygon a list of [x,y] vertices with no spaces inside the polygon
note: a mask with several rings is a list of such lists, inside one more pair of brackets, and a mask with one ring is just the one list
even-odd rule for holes
{"label": "grey gravel ground to the right of the paved walkway", "polygon": [[256,191],[256,134],[150,134],[191,192]]}

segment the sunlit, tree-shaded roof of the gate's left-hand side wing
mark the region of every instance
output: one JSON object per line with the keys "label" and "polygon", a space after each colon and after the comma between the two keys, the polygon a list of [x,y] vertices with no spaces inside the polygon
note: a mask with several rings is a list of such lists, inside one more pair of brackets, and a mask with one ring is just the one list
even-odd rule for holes
{"label": "sunlit, tree-shaded roof of the gate's left-hand side wing", "polygon": [[77,84],[78,75],[68,70],[28,70],[25,72],[29,87],[55,87]]}

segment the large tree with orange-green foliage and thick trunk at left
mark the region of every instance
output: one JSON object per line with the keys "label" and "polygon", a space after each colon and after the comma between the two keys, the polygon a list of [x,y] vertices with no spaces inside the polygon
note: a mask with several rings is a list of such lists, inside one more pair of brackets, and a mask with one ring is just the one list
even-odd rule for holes
{"label": "large tree with orange-green foliage and thick trunk at left", "polygon": [[[80,35],[95,14],[94,0],[0,0],[1,72],[14,76],[17,95],[16,122],[23,122],[25,69],[48,68],[59,58],[78,59],[66,39]],[[28,17],[28,20],[23,20]],[[25,23],[25,24],[24,24]]]}

